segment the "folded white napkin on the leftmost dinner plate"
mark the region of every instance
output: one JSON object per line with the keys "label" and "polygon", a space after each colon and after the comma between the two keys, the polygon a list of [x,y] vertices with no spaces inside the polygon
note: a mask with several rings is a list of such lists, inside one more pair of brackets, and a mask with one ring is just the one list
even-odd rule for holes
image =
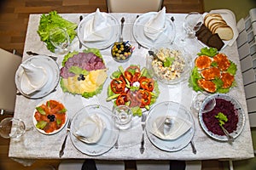
{"label": "folded white napkin on the leftmost dinner plate", "polygon": [[47,71],[42,66],[21,64],[23,74],[21,77],[20,88],[24,94],[32,94],[41,89],[46,84]]}

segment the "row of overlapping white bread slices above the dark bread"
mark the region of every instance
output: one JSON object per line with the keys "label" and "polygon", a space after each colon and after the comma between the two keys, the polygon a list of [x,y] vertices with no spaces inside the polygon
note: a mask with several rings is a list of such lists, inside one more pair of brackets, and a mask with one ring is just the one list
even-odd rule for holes
{"label": "row of overlapping white bread slices above the dark bread", "polygon": [[204,19],[204,24],[212,31],[212,34],[217,33],[224,41],[229,41],[234,37],[232,28],[223,19],[221,14],[207,14]]}

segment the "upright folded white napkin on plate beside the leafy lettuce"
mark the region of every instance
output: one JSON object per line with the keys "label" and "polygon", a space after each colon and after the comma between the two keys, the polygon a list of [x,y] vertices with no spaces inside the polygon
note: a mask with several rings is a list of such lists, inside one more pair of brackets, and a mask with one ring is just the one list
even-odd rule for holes
{"label": "upright folded white napkin on plate beside the leafy lettuce", "polygon": [[110,37],[111,26],[108,14],[101,13],[97,8],[92,19],[84,24],[84,42],[107,41]]}

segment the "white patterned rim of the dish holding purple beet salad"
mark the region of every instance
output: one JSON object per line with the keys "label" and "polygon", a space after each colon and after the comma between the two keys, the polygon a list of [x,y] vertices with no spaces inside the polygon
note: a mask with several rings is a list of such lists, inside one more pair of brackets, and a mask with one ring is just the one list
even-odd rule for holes
{"label": "white patterned rim of the dish holding purple beet salad", "polygon": [[[212,133],[206,126],[205,122],[203,121],[203,117],[202,115],[203,113],[203,109],[206,107],[207,103],[209,101],[211,101],[211,99],[224,99],[226,101],[230,101],[236,110],[236,114],[238,116],[238,122],[237,122],[237,127],[236,130],[233,133],[230,133],[230,135],[236,139],[240,134],[241,131],[245,125],[245,115],[244,115],[244,111],[240,105],[240,103],[238,101],[236,101],[236,99],[233,99],[232,97],[230,97],[227,94],[212,94],[210,96],[207,97],[207,99],[205,99],[201,105],[201,109],[199,111],[199,122],[201,124],[201,127],[204,129],[204,131],[213,139],[218,139],[220,141],[228,141],[227,137],[225,135],[218,135],[215,133]],[[214,108],[213,108],[214,109]]]}

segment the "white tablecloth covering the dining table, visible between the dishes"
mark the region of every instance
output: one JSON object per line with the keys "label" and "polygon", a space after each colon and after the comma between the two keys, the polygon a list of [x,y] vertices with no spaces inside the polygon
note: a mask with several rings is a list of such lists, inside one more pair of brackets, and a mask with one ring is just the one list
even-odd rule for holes
{"label": "white tablecloth covering the dining table, visible between the dishes", "polygon": [[[89,105],[102,105],[107,107],[110,111],[113,108],[113,103],[106,101],[107,88],[110,80],[110,74],[112,71],[118,70],[119,65],[126,68],[129,65],[140,65],[141,68],[146,66],[146,56],[150,48],[143,47],[138,44],[134,37],[133,24],[137,20],[137,17],[141,17],[142,14],[130,14],[130,13],[109,13],[121,24],[121,18],[125,18],[125,25],[123,30],[124,41],[129,41],[134,46],[131,59],[125,63],[119,63],[113,60],[111,55],[111,46],[101,49],[102,58],[108,68],[108,78],[105,82],[102,93],[96,96],[86,99],[79,94],[64,93],[61,89],[60,83],[55,89],[39,99],[30,99],[24,95],[16,95],[15,114],[16,118],[20,118],[26,124],[26,127],[32,127],[26,131],[19,139],[10,139],[9,143],[9,157],[22,163],[25,166],[32,165],[32,162],[37,159],[99,159],[99,160],[244,160],[253,158],[253,142],[250,130],[250,124],[247,114],[247,103],[245,98],[245,92],[243,88],[242,74],[239,54],[237,51],[236,40],[232,44],[227,45],[221,49],[221,53],[226,54],[237,65],[236,71],[236,87],[231,88],[228,95],[236,99],[245,113],[245,123],[242,128],[241,134],[231,144],[226,141],[219,141],[212,139],[201,127],[198,117],[198,111],[195,111],[192,107],[193,99],[197,92],[189,87],[189,76],[182,82],[176,84],[166,85],[159,82],[160,94],[154,105],[160,104],[165,101],[172,101],[177,104],[183,105],[183,107],[189,111],[189,114],[193,117],[193,123],[195,126],[195,132],[193,134],[192,141],[195,144],[196,153],[193,153],[191,143],[189,142],[180,150],[166,151],[156,147],[152,141],[148,139],[148,135],[145,134],[145,150],[143,154],[140,152],[141,138],[143,134],[141,126],[141,117],[133,116],[131,122],[131,128],[127,130],[119,130],[119,147],[116,148],[113,145],[108,151],[99,155],[84,154],[81,150],[78,150],[71,139],[71,134],[67,138],[66,148],[64,155],[59,156],[61,150],[61,144],[66,136],[67,124],[62,130],[55,134],[44,134],[38,132],[34,127],[33,113],[37,105],[48,99],[60,100],[67,108],[68,119],[73,120],[73,116],[79,112],[83,107]],[[72,21],[79,25],[79,17],[82,15],[86,17],[88,14],[60,14],[65,20]],[[49,56],[55,56],[56,63],[61,69],[62,60],[65,54],[52,53],[47,48],[44,42],[40,40],[38,36],[38,25],[42,14],[30,14],[28,20],[28,26],[26,31],[26,42],[24,46],[23,61],[32,57],[32,55],[26,54],[27,51],[32,51],[37,54],[45,54]],[[181,37],[184,36],[183,21],[186,14],[173,14],[166,13],[166,18],[173,20],[175,26],[175,38],[172,43],[176,43],[188,54],[191,65],[194,65],[194,60],[202,45],[196,38],[187,38],[185,42],[181,41]],[[236,21],[236,20],[235,20]],[[118,40],[117,40],[118,41]],[[172,44],[170,43],[170,46]],[[87,47],[82,46],[79,48],[79,38],[75,37],[71,44],[71,51],[82,52]],[[170,146],[172,147],[172,146]]]}

